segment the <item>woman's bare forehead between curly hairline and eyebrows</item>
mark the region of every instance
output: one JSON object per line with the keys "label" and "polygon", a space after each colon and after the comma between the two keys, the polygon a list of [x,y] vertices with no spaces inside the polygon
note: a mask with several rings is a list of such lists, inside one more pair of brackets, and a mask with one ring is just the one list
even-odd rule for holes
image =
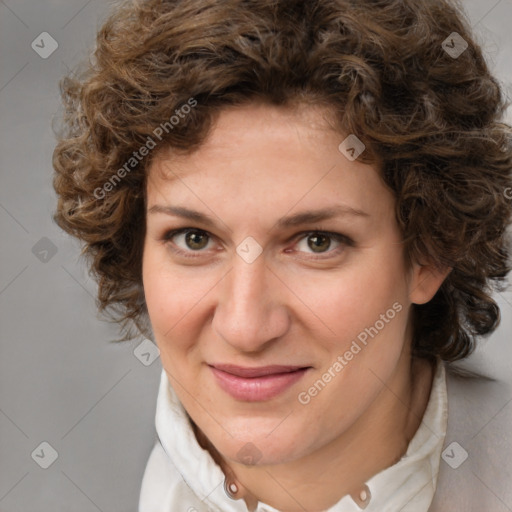
{"label": "woman's bare forehead between curly hairline and eyebrows", "polygon": [[155,158],[148,202],[201,205],[229,199],[237,207],[243,201],[246,208],[282,205],[277,208],[282,211],[330,200],[383,214],[390,191],[376,165],[351,161],[340,152],[345,138],[321,108],[229,108],[197,150],[179,154],[169,148]]}

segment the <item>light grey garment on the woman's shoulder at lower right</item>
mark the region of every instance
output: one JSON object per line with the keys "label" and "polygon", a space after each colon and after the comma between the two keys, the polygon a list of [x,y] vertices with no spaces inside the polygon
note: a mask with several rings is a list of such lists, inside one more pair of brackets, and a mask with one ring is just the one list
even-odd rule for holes
{"label": "light grey garment on the woman's shoulder at lower right", "polygon": [[446,367],[448,429],[429,512],[512,509],[512,386]]}

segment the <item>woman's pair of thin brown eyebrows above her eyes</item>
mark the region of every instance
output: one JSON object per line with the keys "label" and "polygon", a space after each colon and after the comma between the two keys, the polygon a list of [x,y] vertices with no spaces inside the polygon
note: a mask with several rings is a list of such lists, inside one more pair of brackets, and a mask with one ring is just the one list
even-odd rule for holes
{"label": "woman's pair of thin brown eyebrows above her eyes", "polygon": [[[209,215],[205,215],[204,213],[190,210],[183,206],[162,206],[162,205],[154,205],[148,209],[149,214],[154,213],[164,213],[166,215],[173,215],[176,217],[182,217],[184,219],[189,219],[195,222],[200,222],[209,227],[215,227],[215,221]],[[351,206],[345,205],[336,205],[328,208],[322,208],[320,210],[308,210],[302,211],[298,213],[294,213],[293,215],[289,215],[287,217],[282,217],[276,222],[276,226],[279,229],[289,228],[301,226],[303,224],[313,224],[315,222],[321,222],[323,220],[332,219],[335,217],[341,216],[353,216],[353,217],[361,217],[367,218],[370,215],[362,210],[358,210],[356,208],[352,208]]]}

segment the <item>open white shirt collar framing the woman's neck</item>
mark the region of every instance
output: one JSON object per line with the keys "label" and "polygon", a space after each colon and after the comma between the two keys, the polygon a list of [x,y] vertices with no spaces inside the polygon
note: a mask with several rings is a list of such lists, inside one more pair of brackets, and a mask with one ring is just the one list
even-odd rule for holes
{"label": "open white shirt collar framing the woman's neck", "polygon": [[[438,360],[423,420],[405,455],[366,482],[371,498],[365,512],[428,511],[436,488],[446,436],[447,401],[445,368]],[[199,499],[225,512],[247,512],[243,500],[234,501],[226,496],[224,473],[209,452],[199,445],[165,370],[162,370],[160,380],[155,423],[163,449]],[[326,512],[361,510],[350,496],[345,496]],[[260,503],[256,512],[279,511]]]}

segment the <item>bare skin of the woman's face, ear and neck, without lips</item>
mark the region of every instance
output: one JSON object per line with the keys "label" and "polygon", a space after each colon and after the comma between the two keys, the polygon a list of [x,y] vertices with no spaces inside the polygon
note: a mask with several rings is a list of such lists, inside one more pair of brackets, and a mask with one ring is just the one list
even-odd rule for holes
{"label": "bare skin of the woman's face, ear and neck, without lips", "polygon": [[[198,150],[162,151],[149,168],[143,284],[162,365],[199,441],[250,507],[318,511],[357,494],[405,453],[432,384],[430,365],[410,354],[410,313],[446,273],[406,267],[391,191],[376,166],[338,150],[345,135],[326,119],[311,106],[230,107]],[[283,216],[340,204],[365,215],[277,228]],[[149,212],[155,205],[197,210],[215,225]],[[199,245],[166,239],[185,227],[202,230]],[[321,239],[315,251],[318,231],[353,243]],[[252,263],[236,252],[249,236],[263,249]],[[298,394],[397,302],[401,311],[301,404]],[[212,363],[312,368],[277,397],[245,402],[219,387]],[[252,465],[237,455],[249,442]]]}

